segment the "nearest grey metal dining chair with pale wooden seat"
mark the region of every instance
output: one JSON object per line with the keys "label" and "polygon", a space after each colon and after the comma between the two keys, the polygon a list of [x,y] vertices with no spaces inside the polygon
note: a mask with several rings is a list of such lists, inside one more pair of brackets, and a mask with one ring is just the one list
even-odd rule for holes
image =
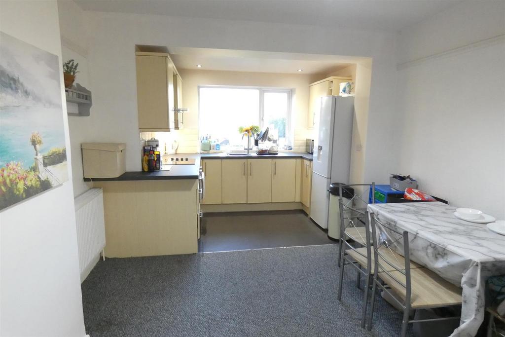
{"label": "nearest grey metal dining chair with pale wooden seat", "polygon": [[370,213],[370,227],[374,267],[368,329],[372,328],[377,288],[390,295],[403,309],[401,337],[407,334],[409,323],[460,319],[459,316],[410,319],[411,309],[461,305],[462,290],[431,270],[410,261],[409,232],[398,229],[392,223],[380,221],[374,213]]}

